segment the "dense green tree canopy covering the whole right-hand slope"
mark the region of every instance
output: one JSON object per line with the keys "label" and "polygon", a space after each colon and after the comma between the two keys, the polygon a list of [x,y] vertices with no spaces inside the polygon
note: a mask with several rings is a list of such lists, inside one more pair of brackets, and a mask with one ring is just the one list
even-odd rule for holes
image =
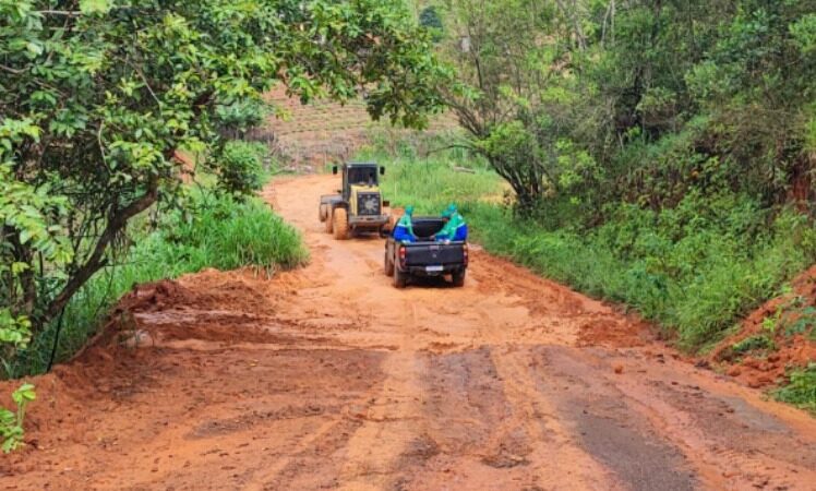
{"label": "dense green tree canopy covering the whole right-hand slope", "polygon": [[447,0],[446,99],[523,208],[816,196],[816,1]]}

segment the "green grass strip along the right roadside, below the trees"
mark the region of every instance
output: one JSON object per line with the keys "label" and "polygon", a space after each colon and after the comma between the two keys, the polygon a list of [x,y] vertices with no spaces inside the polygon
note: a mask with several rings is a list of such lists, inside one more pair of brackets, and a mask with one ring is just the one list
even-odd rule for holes
{"label": "green grass strip along the right roadside, below the trees", "polygon": [[814,261],[813,251],[796,239],[806,224],[792,212],[753,237],[695,231],[672,240],[668,230],[647,227],[632,239],[633,247],[646,242],[643,249],[627,253],[605,237],[621,232],[625,223],[575,232],[541,229],[495,206],[473,212],[476,237],[488,250],[596,298],[633,307],[688,350],[718,339]]}

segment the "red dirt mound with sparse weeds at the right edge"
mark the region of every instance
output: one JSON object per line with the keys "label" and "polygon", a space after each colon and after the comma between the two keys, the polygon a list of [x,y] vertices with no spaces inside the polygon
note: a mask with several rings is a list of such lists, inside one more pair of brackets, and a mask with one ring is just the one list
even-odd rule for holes
{"label": "red dirt mound with sparse weeds at the right edge", "polygon": [[754,388],[784,383],[792,369],[813,361],[816,361],[816,265],[797,276],[789,292],[748,315],[737,333],[703,360]]}

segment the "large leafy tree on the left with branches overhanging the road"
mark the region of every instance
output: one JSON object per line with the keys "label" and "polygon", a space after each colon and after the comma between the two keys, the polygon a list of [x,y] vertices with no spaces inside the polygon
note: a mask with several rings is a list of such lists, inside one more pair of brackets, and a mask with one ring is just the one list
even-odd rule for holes
{"label": "large leafy tree on the left with branches overhanging the road", "polygon": [[399,0],[0,0],[0,339],[36,335],[173,199],[178,148],[217,155],[257,119],[225,108],[279,83],[421,127],[440,73]]}

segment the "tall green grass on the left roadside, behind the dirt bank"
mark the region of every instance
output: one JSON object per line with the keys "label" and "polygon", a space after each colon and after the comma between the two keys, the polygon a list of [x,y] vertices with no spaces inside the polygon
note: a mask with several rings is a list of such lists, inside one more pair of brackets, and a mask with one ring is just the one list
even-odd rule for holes
{"label": "tall green grass on the left roadside, behind the dirt bank", "polygon": [[187,212],[166,216],[155,230],[136,224],[133,246],[118,265],[98,272],[69,302],[61,319],[12,360],[2,360],[5,376],[43,373],[51,361],[70,358],[93,336],[111,307],[134,285],[176,278],[206,267],[255,267],[272,274],[308,261],[297,230],[257,199],[229,196],[193,200]]}

